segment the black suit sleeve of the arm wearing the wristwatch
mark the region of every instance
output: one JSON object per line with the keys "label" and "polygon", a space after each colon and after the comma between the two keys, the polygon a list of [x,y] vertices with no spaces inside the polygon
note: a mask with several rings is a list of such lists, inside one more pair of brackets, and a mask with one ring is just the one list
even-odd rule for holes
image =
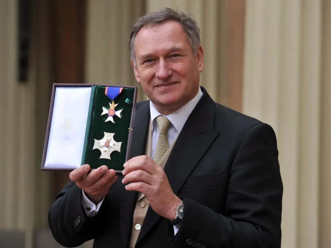
{"label": "black suit sleeve of the arm wearing the wristwatch", "polygon": [[280,248],[283,184],[273,129],[253,127],[229,173],[225,215],[184,198],[184,215],[174,236],[183,247]]}

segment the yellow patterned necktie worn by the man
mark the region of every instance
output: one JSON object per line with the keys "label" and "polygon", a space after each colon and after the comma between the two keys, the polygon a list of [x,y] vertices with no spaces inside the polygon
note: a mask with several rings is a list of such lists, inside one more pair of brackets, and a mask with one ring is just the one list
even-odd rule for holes
{"label": "yellow patterned necktie worn by the man", "polygon": [[169,149],[169,141],[167,139],[167,133],[168,133],[170,121],[165,116],[158,116],[156,118],[156,122],[159,127],[159,137],[154,153],[154,161],[159,164],[161,159],[165,155],[166,151]]}

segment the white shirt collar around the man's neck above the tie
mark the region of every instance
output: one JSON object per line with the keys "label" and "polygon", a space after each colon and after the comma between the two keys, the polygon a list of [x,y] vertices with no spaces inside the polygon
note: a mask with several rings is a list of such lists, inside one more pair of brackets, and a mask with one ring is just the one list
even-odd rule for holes
{"label": "white shirt collar around the man's neck above the tie", "polygon": [[[198,94],[188,103],[186,103],[184,106],[180,107],[170,115],[166,116],[171,124],[176,128],[178,133],[182,130],[187,118],[189,115],[192,113],[193,109],[199,102],[200,98],[202,97],[203,93],[201,91],[201,88],[199,87],[199,92]],[[154,104],[152,101],[150,101],[150,112],[151,112],[151,120],[152,120],[152,132],[154,129],[154,122],[155,118],[161,115],[159,111],[156,110]],[[165,116],[165,115],[163,115]]]}

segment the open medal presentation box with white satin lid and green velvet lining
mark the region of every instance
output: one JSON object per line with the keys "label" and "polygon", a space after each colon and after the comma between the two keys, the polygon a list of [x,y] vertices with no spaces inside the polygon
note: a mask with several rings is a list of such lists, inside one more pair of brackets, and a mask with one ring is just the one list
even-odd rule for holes
{"label": "open medal presentation box with white satin lid and green velvet lining", "polygon": [[43,171],[91,170],[106,165],[121,174],[127,161],[137,87],[53,84]]}

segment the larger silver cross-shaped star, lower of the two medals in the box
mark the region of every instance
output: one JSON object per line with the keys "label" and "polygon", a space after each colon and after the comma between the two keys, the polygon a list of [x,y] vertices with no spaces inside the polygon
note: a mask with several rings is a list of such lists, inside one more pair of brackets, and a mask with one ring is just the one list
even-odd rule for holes
{"label": "larger silver cross-shaped star, lower of the two medals in the box", "polygon": [[115,133],[104,132],[104,137],[100,140],[94,139],[93,149],[99,149],[101,151],[100,159],[109,159],[110,154],[114,151],[121,152],[122,142],[116,142],[114,140]]}

